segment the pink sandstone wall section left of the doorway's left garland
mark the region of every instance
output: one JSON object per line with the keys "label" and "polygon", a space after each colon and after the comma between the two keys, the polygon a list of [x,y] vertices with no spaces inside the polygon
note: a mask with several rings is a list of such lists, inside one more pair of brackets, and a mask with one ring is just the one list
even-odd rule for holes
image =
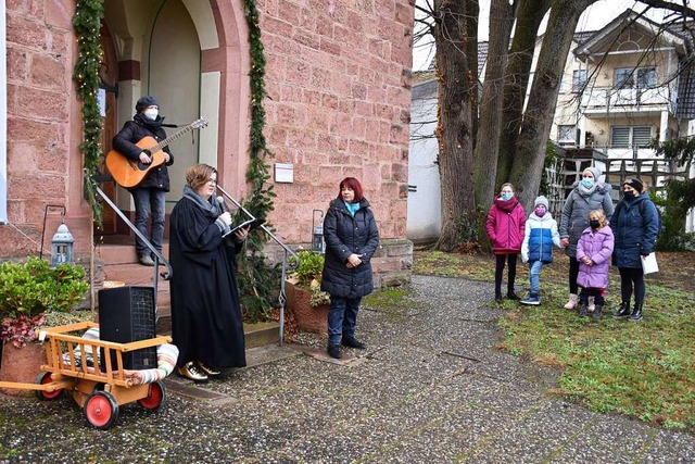
{"label": "pink sandstone wall section left of the doorway's left garland", "polygon": [[[68,175],[75,172],[75,164],[81,164],[77,151],[79,125],[71,124],[75,112],[79,118],[72,84],[74,10],[71,0],[7,2],[11,224],[0,226],[0,256],[39,253],[48,204],[67,208],[66,223],[73,235],[89,234],[81,179]],[[49,211],[45,254],[48,251],[50,255],[50,240],[60,218],[60,209]],[[88,238],[79,240],[76,251],[88,252],[89,246]]]}

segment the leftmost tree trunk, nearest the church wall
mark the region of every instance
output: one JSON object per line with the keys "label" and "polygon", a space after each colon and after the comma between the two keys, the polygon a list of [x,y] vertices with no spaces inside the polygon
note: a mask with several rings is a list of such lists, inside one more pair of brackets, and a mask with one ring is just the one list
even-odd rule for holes
{"label": "leftmost tree trunk, nearest the church wall", "polygon": [[[472,186],[472,114],[476,79],[465,51],[468,41],[468,7],[471,0],[434,2],[434,42],[439,104],[437,138],[442,199],[442,228],[435,248],[456,247],[456,221],[475,216]],[[476,2],[477,4],[477,2]],[[476,64],[472,63],[475,66]]]}

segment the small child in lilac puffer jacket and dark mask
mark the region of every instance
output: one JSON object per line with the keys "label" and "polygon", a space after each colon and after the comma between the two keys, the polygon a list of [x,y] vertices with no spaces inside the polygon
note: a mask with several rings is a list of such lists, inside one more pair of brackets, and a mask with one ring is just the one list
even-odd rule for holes
{"label": "small child in lilac puffer jacket and dark mask", "polygon": [[605,304],[604,294],[608,287],[608,268],[614,248],[612,230],[603,210],[589,213],[589,227],[584,229],[577,243],[579,276],[577,284],[582,287],[579,294],[579,316],[589,316],[589,297],[594,297],[596,309],[594,317],[602,316]]}

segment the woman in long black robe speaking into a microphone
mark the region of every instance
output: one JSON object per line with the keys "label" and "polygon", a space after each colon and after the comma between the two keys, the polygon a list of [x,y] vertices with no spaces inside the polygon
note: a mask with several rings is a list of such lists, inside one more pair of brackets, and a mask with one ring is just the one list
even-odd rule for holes
{"label": "woman in long black robe speaking into a microphone", "polygon": [[220,368],[247,365],[235,254],[248,229],[230,231],[218,201],[217,171],[195,164],[170,215],[172,333],[179,375],[206,381]]}

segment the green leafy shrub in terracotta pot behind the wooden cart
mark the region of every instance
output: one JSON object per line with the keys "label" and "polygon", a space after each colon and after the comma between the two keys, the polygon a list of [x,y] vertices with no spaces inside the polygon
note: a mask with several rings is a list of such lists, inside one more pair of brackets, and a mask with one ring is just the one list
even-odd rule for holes
{"label": "green leafy shrub in terracotta pot behind the wooden cart", "polygon": [[37,343],[50,312],[70,312],[85,297],[89,284],[76,264],[49,263],[29,258],[26,263],[0,263],[0,380],[33,383],[45,362]]}

